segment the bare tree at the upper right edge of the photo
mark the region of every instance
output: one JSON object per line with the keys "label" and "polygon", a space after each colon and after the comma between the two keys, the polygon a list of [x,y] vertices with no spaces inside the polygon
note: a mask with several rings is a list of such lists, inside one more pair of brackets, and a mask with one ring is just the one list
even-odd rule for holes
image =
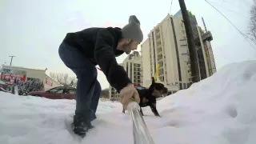
{"label": "bare tree at the upper right edge of the photo", "polygon": [[254,44],[256,44],[256,0],[250,10],[250,22],[249,22],[249,38]]}

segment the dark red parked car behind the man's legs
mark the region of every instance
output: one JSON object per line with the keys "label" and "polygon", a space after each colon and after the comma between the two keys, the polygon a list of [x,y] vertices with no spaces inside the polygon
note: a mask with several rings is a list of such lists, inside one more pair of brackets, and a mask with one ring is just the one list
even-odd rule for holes
{"label": "dark red parked car behind the man's legs", "polygon": [[58,86],[46,91],[31,91],[27,95],[50,99],[74,99],[74,87]]}

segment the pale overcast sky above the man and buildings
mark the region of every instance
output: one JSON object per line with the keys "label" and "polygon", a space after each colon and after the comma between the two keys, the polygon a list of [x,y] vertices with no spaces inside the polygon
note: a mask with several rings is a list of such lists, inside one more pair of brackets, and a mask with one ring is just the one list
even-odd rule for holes
{"label": "pale overcast sky above the man and buildings", "polygon": [[[214,36],[212,47],[219,70],[232,62],[256,60],[256,48],[252,48],[241,34],[221,14],[204,0],[186,0],[187,9],[195,14],[198,25]],[[242,32],[246,32],[253,0],[209,0]],[[0,1],[0,65],[36,69],[48,68],[52,72],[74,74],[66,68],[58,56],[58,46],[66,33],[90,26],[124,26],[131,14],[141,21],[144,40],[154,26],[170,12],[180,8],[178,0],[1,0]],[[254,46],[256,47],[256,46]],[[118,62],[126,58],[118,57]],[[109,86],[105,76],[98,71],[102,88]]]}

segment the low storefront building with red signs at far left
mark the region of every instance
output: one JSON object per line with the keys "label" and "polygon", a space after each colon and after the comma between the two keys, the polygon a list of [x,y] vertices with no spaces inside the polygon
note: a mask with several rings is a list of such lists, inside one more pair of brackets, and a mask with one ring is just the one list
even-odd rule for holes
{"label": "low storefront building with red signs at far left", "polygon": [[46,75],[46,70],[29,69],[19,66],[6,66],[2,65],[1,80],[8,85],[12,85],[14,80],[18,79],[21,82],[34,81],[42,82],[44,90],[56,86],[62,86],[58,82],[55,82],[52,78]]}

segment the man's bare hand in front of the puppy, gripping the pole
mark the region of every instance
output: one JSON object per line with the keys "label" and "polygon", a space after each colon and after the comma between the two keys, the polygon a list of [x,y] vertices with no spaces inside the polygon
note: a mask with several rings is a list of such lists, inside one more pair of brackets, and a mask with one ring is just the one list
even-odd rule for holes
{"label": "man's bare hand in front of the puppy, gripping the pole", "polygon": [[120,102],[122,103],[125,110],[127,110],[127,106],[129,102],[132,102],[131,98],[134,97],[134,101],[139,103],[140,98],[138,96],[138,91],[135,89],[133,84],[128,84],[126,87],[122,88],[119,93]]}

